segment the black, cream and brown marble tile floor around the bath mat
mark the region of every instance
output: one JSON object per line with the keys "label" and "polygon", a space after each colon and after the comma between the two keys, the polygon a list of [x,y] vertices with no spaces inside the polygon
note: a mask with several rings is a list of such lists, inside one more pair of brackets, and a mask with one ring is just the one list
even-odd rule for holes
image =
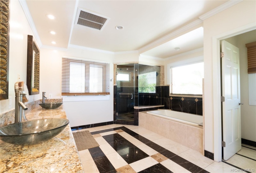
{"label": "black, cream and brown marble tile floor around the bath mat", "polygon": [[83,130],[89,130],[100,145],[79,151],[85,173],[207,173],[237,170],[139,126],[111,124],[77,131]]}

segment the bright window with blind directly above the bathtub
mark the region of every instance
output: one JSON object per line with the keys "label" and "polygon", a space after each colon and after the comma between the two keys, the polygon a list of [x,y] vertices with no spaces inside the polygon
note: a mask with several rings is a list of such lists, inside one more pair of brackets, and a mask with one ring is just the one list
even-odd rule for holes
{"label": "bright window with blind directly above the bathtub", "polygon": [[176,66],[170,68],[171,95],[202,95],[204,63]]}

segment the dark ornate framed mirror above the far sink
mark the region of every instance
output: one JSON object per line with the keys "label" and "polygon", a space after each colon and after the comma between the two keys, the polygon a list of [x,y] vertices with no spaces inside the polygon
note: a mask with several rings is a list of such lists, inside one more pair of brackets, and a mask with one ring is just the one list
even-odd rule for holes
{"label": "dark ornate framed mirror above the far sink", "polygon": [[33,36],[28,35],[27,86],[29,95],[39,94],[40,50]]}

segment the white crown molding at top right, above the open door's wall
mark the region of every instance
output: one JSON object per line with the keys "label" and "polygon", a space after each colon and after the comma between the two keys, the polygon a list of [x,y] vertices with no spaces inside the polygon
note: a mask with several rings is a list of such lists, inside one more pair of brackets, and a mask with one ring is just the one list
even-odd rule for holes
{"label": "white crown molding at top right, above the open door's wall", "polygon": [[207,19],[207,18],[209,18],[209,17],[211,17],[211,16],[213,16],[213,15],[215,15],[215,14],[217,14],[217,13],[223,11],[223,10],[226,10],[227,8],[229,8],[233,5],[236,5],[237,3],[242,2],[242,1],[243,0],[230,0],[230,1],[222,4],[221,6],[218,6],[218,7],[214,8],[213,10],[199,16],[199,19],[205,20],[205,19]]}

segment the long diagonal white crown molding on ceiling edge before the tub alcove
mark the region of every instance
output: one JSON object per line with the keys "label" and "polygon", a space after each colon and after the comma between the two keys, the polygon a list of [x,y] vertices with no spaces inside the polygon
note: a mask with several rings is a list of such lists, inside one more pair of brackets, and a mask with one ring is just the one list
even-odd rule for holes
{"label": "long diagonal white crown molding on ceiling edge before the tub alcove", "polygon": [[150,47],[155,46],[156,44],[159,44],[159,43],[163,42],[164,40],[170,39],[171,37],[176,36],[177,34],[179,34],[181,32],[184,32],[184,31],[190,29],[191,27],[194,27],[194,26],[196,26],[196,25],[198,25],[198,24],[200,24],[202,22],[203,22],[203,20],[197,19],[194,22],[191,22],[191,23],[187,24],[186,26],[181,27],[180,29],[177,29],[176,31],[174,31],[174,32],[172,32],[172,33],[170,33],[170,34],[160,38],[159,40],[156,40],[153,43],[150,43],[150,44],[144,46],[143,48],[139,49],[138,51],[142,52],[142,51],[144,51],[146,49],[149,49]]}

